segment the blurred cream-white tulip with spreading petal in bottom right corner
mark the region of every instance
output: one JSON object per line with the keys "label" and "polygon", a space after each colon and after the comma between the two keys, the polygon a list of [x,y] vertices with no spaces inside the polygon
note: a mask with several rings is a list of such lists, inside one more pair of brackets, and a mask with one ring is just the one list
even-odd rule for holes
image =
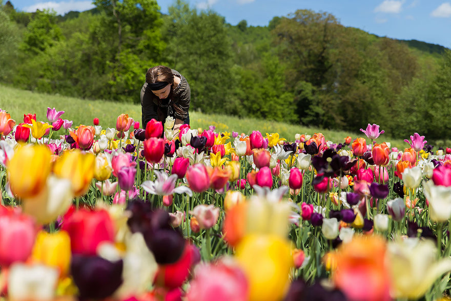
{"label": "blurred cream-white tulip with spreading petal in bottom right corner", "polygon": [[390,242],[387,260],[395,298],[420,299],[442,274],[451,271],[451,259],[438,259],[437,248],[430,240],[408,238]]}

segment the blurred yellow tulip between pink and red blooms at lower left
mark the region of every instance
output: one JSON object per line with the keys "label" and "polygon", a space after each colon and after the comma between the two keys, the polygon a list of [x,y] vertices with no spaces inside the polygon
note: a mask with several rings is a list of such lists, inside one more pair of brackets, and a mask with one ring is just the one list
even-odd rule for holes
{"label": "blurred yellow tulip between pink and red blooms at lower left", "polygon": [[69,273],[71,261],[70,237],[66,231],[56,233],[40,231],[31,254],[32,260],[59,269],[59,277]]}

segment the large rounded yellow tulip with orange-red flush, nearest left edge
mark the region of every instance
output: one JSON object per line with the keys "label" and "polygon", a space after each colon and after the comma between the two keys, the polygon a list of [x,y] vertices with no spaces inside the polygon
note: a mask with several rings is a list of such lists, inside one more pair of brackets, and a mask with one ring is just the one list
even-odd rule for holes
{"label": "large rounded yellow tulip with orange-red flush, nearest left edge", "polygon": [[11,191],[19,198],[32,198],[46,186],[52,153],[44,145],[19,146],[9,161]]}

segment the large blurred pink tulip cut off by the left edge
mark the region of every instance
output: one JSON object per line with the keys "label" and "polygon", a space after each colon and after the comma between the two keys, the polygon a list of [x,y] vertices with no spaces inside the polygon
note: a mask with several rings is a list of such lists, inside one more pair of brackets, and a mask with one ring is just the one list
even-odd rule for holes
{"label": "large blurred pink tulip cut off by the left edge", "polygon": [[0,266],[25,262],[36,238],[36,226],[31,217],[0,207]]}

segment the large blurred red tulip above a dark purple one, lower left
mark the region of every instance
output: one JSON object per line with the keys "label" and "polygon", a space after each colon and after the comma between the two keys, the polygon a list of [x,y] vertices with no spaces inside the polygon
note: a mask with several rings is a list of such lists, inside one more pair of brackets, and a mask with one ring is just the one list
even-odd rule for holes
{"label": "large blurred red tulip above a dark purple one, lower left", "polygon": [[102,242],[114,242],[114,224],[108,211],[69,210],[61,229],[71,238],[74,254],[95,255]]}

